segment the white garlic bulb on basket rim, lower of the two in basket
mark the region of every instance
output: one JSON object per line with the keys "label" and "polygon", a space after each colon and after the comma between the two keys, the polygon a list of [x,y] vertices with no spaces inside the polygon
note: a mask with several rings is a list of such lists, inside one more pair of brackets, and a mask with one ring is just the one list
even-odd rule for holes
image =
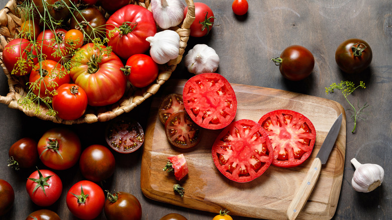
{"label": "white garlic bulb on basket rim, lower of the two in basket", "polygon": [[177,32],[164,30],[146,38],[146,41],[150,42],[150,55],[156,63],[164,64],[177,58],[180,41]]}

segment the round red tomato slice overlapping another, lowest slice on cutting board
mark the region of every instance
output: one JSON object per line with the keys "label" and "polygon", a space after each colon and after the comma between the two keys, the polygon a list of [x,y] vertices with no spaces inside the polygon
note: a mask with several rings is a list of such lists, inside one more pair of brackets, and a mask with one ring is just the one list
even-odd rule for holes
{"label": "round red tomato slice overlapping another, lowest slice on cutting board", "polygon": [[236,182],[249,182],[271,165],[273,149],[267,133],[258,123],[242,119],[219,134],[212,155],[224,176]]}

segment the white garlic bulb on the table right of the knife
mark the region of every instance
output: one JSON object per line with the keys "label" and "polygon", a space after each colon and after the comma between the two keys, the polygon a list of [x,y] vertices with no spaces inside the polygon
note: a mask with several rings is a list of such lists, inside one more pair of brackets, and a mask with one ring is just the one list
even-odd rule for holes
{"label": "white garlic bulb on the table right of the knife", "polygon": [[355,167],[351,180],[352,187],[358,192],[370,192],[381,185],[384,169],[377,164],[360,164],[355,158],[351,160]]}

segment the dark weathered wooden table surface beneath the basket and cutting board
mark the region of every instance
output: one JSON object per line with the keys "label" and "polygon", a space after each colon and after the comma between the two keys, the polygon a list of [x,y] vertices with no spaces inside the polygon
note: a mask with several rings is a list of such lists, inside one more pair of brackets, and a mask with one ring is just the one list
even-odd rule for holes
{"label": "dark weathered wooden table surface beneath the basket and cutting board", "polygon": [[[4,7],[8,1],[1,0]],[[351,112],[346,111],[347,138],[344,174],[338,206],[333,219],[392,219],[392,3],[390,0],[315,0],[272,1],[248,0],[249,11],[245,16],[235,16],[232,1],[195,1],[210,6],[216,17],[212,32],[203,38],[190,38],[187,50],[195,44],[207,44],[220,57],[218,73],[231,83],[255,85],[338,101],[346,109],[349,105],[338,91],[325,92],[325,87],[341,80],[355,84],[364,81],[366,88],[358,89],[348,98],[356,104],[370,104],[365,120],[359,120],[356,133],[352,134]],[[361,74],[348,75],[339,70],[335,62],[337,46],[349,38],[365,40],[373,51],[373,61]],[[278,57],[290,45],[302,45],[315,57],[315,68],[310,77],[293,82],[285,80],[270,60]],[[185,51],[185,54],[187,53]],[[3,73],[3,70],[0,70]],[[191,77],[181,62],[172,78]],[[7,79],[0,77],[0,94],[8,92]],[[138,119],[146,128],[151,99],[125,115]],[[35,205],[26,192],[26,178],[34,169],[15,171],[7,167],[8,151],[13,143],[23,137],[38,140],[44,132],[54,127],[67,127],[79,135],[82,147],[104,144],[107,123],[82,125],[58,125],[28,117],[22,112],[0,105],[0,179],[14,187],[16,199],[12,210],[0,219],[25,219],[29,213],[41,207]],[[156,220],[176,212],[187,219],[212,219],[216,213],[183,208],[146,198],[140,189],[141,150],[130,155],[114,153],[116,171],[104,187],[109,190],[128,191],[134,194],[143,208],[142,219]],[[369,193],[352,189],[354,167],[350,160],[376,163],[384,168],[385,178],[380,187]],[[39,163],[39,168],[44,165]],[[63,194],[53,205],[62,219],[76,219],[65,203],[65,193],[77,181],[83,179],[78,166],[66,171],[55,171],[63,181]],[[219,189],[219,186],[217,186]],[[1,198],[0,198],[1,199]],[[235,220],[251,219],[233,216]],[[106,219],[104,212],[97,219]]]}

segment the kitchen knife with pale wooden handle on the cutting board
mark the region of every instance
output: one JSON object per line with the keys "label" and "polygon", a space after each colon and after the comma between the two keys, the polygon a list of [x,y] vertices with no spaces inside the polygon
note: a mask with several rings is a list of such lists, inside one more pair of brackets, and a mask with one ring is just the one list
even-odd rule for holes
{"label": "kitchen knife with pale wooden handle on the cutting board", "polygon": [[306,201],[309,198],[314,186],[316,185],[317,179],[319,178],[321,165],[325,164],[328,160],[328,156],[331,153],[333,146],[335,145],[336,138],[338,137],[340,126],[342,124],[342,114],[336,119],[331,129],[329,130],[324,143],[321,145],[319,153],[313,160],[313,163],[302,181],[300,188],[297,190],[290,205],[287,208],[287,219],[296,219]]}

